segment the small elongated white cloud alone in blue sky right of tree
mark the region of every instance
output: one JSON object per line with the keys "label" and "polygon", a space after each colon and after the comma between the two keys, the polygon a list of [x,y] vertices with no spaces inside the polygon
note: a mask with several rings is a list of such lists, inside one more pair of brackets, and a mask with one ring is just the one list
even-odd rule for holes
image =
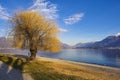
{"label": "small elongated white cloud alone in blue sky right of tree", "polygon": [[74,24],[76,22],[79,22],[82,20],[82,17],[84,16],[84,13],[74,14],[72,16],[69,16],[68,18],[64,19],[65,24]]}

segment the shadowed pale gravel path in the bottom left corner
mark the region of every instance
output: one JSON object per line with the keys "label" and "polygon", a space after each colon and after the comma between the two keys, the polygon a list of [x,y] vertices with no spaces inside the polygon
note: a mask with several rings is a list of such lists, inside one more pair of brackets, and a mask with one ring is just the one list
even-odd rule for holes
{"label": "shadowed pale gravel path in the bottom left corner", "polygon": [[14,69],[0,61],[0,80],[33,80],[27,73]]}

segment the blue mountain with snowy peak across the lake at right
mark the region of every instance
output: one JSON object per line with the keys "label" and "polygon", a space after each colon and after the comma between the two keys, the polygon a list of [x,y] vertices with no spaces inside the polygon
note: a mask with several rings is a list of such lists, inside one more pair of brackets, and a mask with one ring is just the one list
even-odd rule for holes
{"label": "blue mountain with snowy peak across the lake at right", "polygon": [[75,48],[105,48],[105,47],[120,47],[120,33],[108,36],[105,39],[94,43],[79,43]]}

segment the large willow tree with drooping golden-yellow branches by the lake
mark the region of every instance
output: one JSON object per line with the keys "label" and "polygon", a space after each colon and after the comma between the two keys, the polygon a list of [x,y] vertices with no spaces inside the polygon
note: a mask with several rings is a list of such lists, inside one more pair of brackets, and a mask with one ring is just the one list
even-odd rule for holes
{"label": "large willow tree with drooping golden-yellow branches by the lake", "polygon": [[60,32],[53,21],[46,20],[33,11],[15,13],[11,18],[14,46],[29,49],[31,58],[36,57],[37,50],[58,52],[61,44],[57,38]]}

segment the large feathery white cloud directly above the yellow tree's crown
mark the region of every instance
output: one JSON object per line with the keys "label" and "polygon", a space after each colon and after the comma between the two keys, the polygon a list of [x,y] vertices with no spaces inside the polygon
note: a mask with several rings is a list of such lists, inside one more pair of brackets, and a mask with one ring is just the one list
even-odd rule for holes
{"label": "large feathery white cloud directly above the yellow tree's crown", "polygon": [[57,5],[46,0],[34,0],[29,10],[38,11],[49,20],[54,20],[58,17]]}

